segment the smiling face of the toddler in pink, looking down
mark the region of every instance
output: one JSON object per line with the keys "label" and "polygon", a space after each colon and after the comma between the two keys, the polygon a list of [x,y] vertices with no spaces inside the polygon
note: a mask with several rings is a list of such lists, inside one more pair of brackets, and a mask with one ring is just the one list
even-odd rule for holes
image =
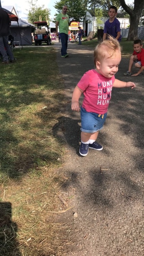
{"label": "smiling face of the toddler in pink, looking down", "polygon": [[121,60],[121,53],[117,52],[112,58],[106,56],[102,61],[96,62],[96,70],[104,77],[111,78],[118,71]]}

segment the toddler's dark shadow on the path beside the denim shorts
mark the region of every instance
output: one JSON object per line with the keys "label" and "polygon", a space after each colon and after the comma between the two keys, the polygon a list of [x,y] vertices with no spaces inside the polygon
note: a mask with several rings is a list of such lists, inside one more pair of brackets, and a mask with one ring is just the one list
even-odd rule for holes
{"label": "toddler's dark shadow on the path beside the denim shorts", "polygon": [[62,116],[58,118],[58,123],[53,127],[53,136],[59,142],[65,141],[79,154],[79,142],[81,141],[81,119],[71,119]]}

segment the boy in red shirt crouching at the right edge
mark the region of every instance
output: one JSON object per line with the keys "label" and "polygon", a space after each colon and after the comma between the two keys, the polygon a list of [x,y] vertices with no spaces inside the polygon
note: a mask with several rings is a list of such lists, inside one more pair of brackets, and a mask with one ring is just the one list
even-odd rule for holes
{"label": "boy in red shirt crouching at the right edge", "polygon": [[133,63],[135,63],[134,67],[139,68],[140,70],[132,76],[137,76],[144,70],[144,49],[140,39],[134,40],[133,49],[134,51],[129,61],[129,70],[124,73],[124,75],[131,75]]}

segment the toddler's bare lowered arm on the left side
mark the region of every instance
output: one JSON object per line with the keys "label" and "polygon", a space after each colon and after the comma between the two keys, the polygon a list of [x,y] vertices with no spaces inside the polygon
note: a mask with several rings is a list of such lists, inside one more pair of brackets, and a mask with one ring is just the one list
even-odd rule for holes
{"label": "toddler's bare lowered arm on the left side", "polygon": [[78,88],[78,86],[76,85],[72,94],[72,104],[71,104],[72,110],[80,111],[80,104],[78,100],[80,99],[82,93],[83,93],[83,90]]}

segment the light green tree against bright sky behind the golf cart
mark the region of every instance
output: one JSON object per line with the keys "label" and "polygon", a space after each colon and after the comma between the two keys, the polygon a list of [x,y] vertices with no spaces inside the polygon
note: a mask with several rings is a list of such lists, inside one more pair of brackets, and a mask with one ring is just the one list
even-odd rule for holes
{"label": "light green tree against bright sky behind the golf cart", "polygon": [[28,10],[28,22],[30,23],[34,23],[37,21],[47,21],[47,23],[49,24],[50,22],[50,12],[51,10],[48,8],[45,8],[44,5],[42,6],[37,6],[37,0],[33,1],[28,1],[29,5],[30,5],[30,10]]}

